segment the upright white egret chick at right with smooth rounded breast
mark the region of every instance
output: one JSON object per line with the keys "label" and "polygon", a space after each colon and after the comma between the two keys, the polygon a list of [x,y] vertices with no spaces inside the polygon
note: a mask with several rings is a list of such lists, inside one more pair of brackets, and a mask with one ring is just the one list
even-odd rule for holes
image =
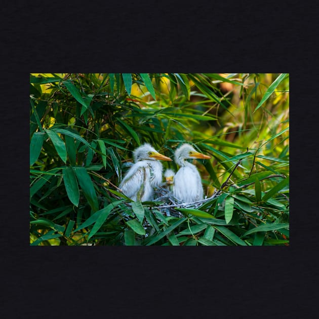
{"label": "upright white egret chick at right with smooth rounded breast", "polygon": [[203,185],[200,173],[195,165],[188,163],[187,158],[209,159],[211,156],[197,152],[191,145],[183,144],[175,151],[175,163],[180,169],[174,178],[174,196],[184,202],[191,203],[203,199]]}

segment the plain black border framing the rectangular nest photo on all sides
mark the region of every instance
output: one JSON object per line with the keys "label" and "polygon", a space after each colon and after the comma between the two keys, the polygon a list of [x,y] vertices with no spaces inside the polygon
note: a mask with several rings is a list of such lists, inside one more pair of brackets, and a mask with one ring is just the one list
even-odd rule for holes
{"label": "plain black border framing the rectangular nest photo on all sides", "polygon": [[[273,0],[2,6],[1,317],[315,317],[316,7]],[[30,247],[28,76],[51,70],[290,73],[290,246]]]}

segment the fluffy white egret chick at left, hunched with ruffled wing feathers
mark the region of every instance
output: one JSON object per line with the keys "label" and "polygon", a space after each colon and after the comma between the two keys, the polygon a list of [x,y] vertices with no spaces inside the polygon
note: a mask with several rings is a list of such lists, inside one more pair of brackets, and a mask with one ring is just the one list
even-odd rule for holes
{"label": "fluffy white egret chick at left, hunched with ruffled wing feathers", "polygon": [[162,161],[172,161],[170,157],[158,153],[150,144],[145,143],[133,151],[134,165],[119,184],[122,192],[133,201],[151,201],[153,187],[162,182]]}

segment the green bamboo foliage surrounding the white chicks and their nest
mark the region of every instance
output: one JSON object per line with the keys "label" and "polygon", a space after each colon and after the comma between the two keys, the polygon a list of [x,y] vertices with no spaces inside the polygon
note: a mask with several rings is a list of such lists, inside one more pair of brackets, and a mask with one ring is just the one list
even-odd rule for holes
{"label": "green bamboo foliage surrounding the white chicks and their nest", "polygon": [[[182,217],[128,200],[144,142],[211,155],[219,195]],[[30,74],[30,245],[289,245],[289,74]]]}

